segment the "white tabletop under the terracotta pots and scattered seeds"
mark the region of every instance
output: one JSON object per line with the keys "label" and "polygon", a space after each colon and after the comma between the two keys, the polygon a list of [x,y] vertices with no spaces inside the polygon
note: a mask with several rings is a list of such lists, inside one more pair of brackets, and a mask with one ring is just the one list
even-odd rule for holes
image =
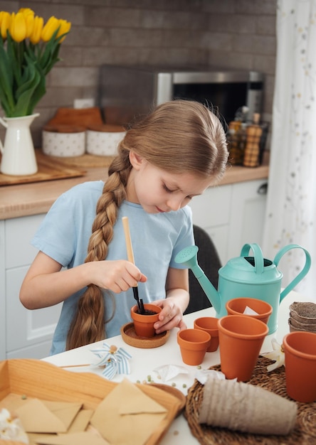
{"label": "white tabletop under the terracotta pots and scattered seeds", "polygon": [[[288,318],[289,318],[289,306],[293,301],[312,301],[307,299],[301,294],[297,294],[291,291],[288,296],[285,296],[283,301],[279,306],[278,311],[278,331],[267,336],[263,343],[261,352],[270,352],[272,350],[271,340],[276,338],[278,343],[282,343],[283,337],[289,332]],[[193,328],[193,322],[195,318],[201,316],[214,316],[214,309],[204,309],[202,311],[190,313],[185,316],[186,325],[188,328]],[[116,336],[112,338],[107,338],[105,341],[108,345],[116,345],[117,348],[124,348],[130,355],[131,373],[130,375],[116,375],[113,379],[114,382],[120,382],[123,378],[128,378],[132,382],[143,382],[147,381],[147,377],[150,375],[154,382],[165,383],[168,385],[175,384],[177,389],[181,390],[186,394],[187,389],[193,384],[194,376],[196,374],[197,367],[185,365],[181,360],[181,354],[179,346],[177,344],[177,328],[174,328],[170,332],[169,339],[167,343],[159,348],[142,349],[134,348],[127,345],[121,336]],[[90,365],[74,367],[75,365],[82,365],[85,363],[97,363],[98,357],[91,352],[93,348],[102,346],[103,341],[93,343],[92,345],[82,346],[81,348],[76,348],[73,350],[66,351],[65,353],[60,353],[52,355],[48,358],[43,358],[48,363],[53,363],[54,365],[60,367],[69,366],[68,370],[73,372],[93,372],[94,374],[102,376],[102,368],[96,368]],[[219,360],[219,350],[214,353],[206,353],[203,363],[201,364],[202,369],[208,369],[210,366],[217,365],[220,363]],[[154,368],[162,365],[178,365],[186,368],[189,371],[188,374],[179,374],[177,377],[172,378],[167,382],[163,382],[157,378],[157,372],[154,372]],[[67,369],[67,368],[66,368]],[[164,438],[160,442],[161,445],[194,445],[199,444],[199,441],[191,435],[189,425],[183,415],[174,419],[169,431],[165,434]]]}

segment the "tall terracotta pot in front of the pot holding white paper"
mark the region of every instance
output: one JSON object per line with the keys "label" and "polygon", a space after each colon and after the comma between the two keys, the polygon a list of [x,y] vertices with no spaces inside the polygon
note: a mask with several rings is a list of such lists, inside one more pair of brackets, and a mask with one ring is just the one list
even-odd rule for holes
{"label": "tall terracotta pot in front of the pot holding white paper", "polygon": [[247,382],[253,373],[268,326],[247,315],[227,315],[218,320],[221,371],[228,379]]}

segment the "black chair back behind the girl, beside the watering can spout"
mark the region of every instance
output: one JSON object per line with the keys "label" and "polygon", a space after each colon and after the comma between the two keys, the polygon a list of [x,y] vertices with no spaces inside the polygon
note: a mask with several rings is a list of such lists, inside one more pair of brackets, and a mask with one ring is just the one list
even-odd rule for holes
{"label": "black chair back behind the girl, beside the watering can spout", "polygon": [[[199,247],[197,253],[197,259],[199,266],[203,270],[206,277],[213,286],[217,289],[218,286],[218,269],[221,268],[221,260],[218,257],[218,252],[214,246],[214,242],[211,240],[209,234],[201,227],[194,225],[194,240],[196,246]],[[190,290],[190,302],[186,308],[186,313],[200,311],[211,307],[211,303],[207,298],[204,290],[201,288],[198,280],[194,277],[193,272],[189,269],[189,290]]]}

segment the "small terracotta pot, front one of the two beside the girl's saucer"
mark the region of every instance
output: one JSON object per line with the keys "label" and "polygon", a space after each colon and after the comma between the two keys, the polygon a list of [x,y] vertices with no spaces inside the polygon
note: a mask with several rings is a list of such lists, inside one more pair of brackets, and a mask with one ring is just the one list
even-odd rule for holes
{"label": "small terracotta pot, front one of the two beside the girl's saucer", "polygon": [[201,365],[209,347],[211,336],[200,329],[184,329],[178,332],[182,361],[186,365]]}

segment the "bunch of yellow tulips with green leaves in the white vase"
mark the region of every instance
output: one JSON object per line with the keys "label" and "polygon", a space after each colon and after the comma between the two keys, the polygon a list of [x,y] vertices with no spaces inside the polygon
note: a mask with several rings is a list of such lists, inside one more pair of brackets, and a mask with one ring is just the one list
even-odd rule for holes
{"label": "bunch of yellow tulips with green leaves in the white vase", "polygon": [[45,24],[29,8],[0,11],[0,102],[6,117],[33,114],[70,26],[54,16]]}

